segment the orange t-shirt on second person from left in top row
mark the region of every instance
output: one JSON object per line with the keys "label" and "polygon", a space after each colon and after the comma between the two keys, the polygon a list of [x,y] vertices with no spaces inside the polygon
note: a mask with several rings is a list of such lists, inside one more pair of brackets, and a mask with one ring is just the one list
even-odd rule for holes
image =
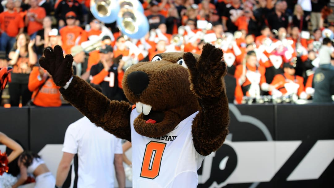
{"label": "orange t-shirt on second person from left in top row", "polygon": [[[30,8],[27,13],[34,13],[36,18],[42,19],[46,16],[45,9],[42,7]],[[29,19],[29,23],[27,26],[27,33],[28,35],[32,35],[33,33],[37,32],[40,29],[43,29],[43,24],[39,23],[35,20],[35,18],[26,18]]]}

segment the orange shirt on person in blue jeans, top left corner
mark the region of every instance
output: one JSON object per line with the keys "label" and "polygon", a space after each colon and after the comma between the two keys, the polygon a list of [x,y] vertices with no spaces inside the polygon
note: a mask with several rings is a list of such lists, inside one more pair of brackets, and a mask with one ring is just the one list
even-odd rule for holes
{"label": "orange shirt on person in blue jeans, top left corner", "polygon": [[2,12],[0,13],[0,27],[8,36],[16,37],[19,29],[24,27],[23,18],[17,12]]}

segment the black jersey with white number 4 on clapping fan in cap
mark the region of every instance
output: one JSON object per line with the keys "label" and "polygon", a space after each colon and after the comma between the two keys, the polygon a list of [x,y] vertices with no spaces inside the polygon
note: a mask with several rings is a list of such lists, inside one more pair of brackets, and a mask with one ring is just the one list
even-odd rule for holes
{"label": "black jersey with white number 4 on clapping fan in cap", "polygon": [[[103,64],[99,62],[91,68],[91,75],[95,76],[104,69]],[[109,69],[109,75],[100,83],[102,93],[110,100],[123,101],[125,100],[123,90],[118,87],[118,72],[117,66],[114,64]]]}

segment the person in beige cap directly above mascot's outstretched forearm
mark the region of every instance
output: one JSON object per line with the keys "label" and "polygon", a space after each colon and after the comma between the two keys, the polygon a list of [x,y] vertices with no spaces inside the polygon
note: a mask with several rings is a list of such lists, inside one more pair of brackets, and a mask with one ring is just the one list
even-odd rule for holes
{"label": "person in beige cap directly above mascot's outstretched forearm", "polygon": [[80,45],[71,48],[71,55],[73,56],[73,74],[88,80],[89,71],[82,70],[82,63],[85,62],[86,54]]}

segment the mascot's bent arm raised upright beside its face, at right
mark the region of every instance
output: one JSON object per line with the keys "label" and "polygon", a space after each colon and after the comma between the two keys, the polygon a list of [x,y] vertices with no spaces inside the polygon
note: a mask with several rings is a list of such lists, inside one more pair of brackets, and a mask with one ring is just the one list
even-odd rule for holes
{"label": "mascot's bent arm raised upright beside its face, at right", "polygon": [[221,61],[222,55],[221,49],[211,44],[203,46],[198,60],[190,52],[183,55],[190,73],[190,89],[199,103],[192,125],[194,147],[204,156],[216,151],[228,134],[229,110],[223,80],[226,64]]}

